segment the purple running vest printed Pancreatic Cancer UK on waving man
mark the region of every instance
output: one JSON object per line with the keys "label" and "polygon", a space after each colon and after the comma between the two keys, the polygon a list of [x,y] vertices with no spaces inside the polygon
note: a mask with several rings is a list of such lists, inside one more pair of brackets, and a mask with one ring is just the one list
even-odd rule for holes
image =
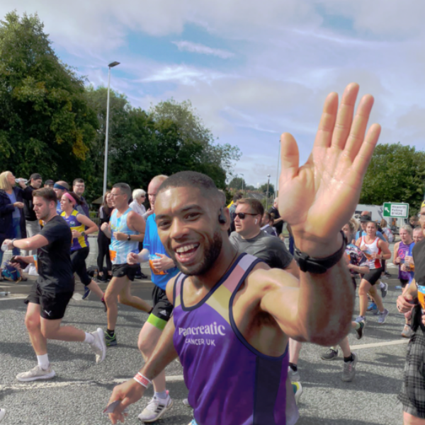
{"label": "purple running vest printed Pancreatic Cancer UK on waving man", "polygon": [[260,353],[234,323],[237,290],[261,260],[240,254],[202,301],[185,307],[182,273],[174,284],[174,347],[198,425],[293,425],[298,419],[288,379],[288,347]]}

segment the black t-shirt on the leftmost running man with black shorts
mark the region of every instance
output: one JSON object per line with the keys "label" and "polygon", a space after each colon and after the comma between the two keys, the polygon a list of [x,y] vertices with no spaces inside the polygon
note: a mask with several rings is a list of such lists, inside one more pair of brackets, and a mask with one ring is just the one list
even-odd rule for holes
{"label": "black t-shirt on the leftmost running man with black shorts", "polygon": [[67,222],[55,215],[40,234],[49,244],[37,250],[37,282],[42,290],[62,293],[74,290],[71,264],[72,233]]}

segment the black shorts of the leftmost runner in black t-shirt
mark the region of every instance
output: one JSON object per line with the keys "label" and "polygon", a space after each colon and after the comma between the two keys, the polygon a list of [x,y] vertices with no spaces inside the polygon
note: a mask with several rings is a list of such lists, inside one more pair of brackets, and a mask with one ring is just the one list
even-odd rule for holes
{"label": "black shorts of the leftmost runner in black t-shirt", "polygon": [[74,291],[63,293],[52,293],[42,290],[40,285],[35,282],[30,290],[30,295],[24,301],[27,305],[29,302],[40,305],[40,316],[43,319],[62,319],[67,310],[69,300],[71,300]]}

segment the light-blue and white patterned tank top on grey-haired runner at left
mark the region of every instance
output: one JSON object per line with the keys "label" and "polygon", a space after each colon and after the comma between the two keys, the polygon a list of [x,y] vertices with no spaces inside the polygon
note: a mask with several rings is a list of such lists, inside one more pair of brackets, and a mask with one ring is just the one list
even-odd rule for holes
{"label": "light-blue and white patterned tank top on grey-haired runner at left", "polygon": [[109,254],[111,256],[111,262],[113,264],[126,264],[127,256],[130,252],[139,253],[139,242],[137,241],[118,241],[115,239],[114,232],[123,232],[125,234],[139,234],[135,230],[130,229],[127,225],[128,213],[132,209],[129,207],[121,217],[117,217],[118,210],[113,210],[111,214],[111,244],[109,245]]}

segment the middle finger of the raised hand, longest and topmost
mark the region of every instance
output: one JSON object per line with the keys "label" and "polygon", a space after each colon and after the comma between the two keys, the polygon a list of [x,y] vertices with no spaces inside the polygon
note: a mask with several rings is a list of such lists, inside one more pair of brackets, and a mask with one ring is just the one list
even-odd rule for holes
{"label": "middle finger of the raised hand, longest and topmost", "polygon": [[334,133],[332,135],[332,147],[344,149],[348,135],[350,134],[351,124],[353,123],[353,112],[358,95],[358,84],[351,83],[346,86],[341,98]]}

